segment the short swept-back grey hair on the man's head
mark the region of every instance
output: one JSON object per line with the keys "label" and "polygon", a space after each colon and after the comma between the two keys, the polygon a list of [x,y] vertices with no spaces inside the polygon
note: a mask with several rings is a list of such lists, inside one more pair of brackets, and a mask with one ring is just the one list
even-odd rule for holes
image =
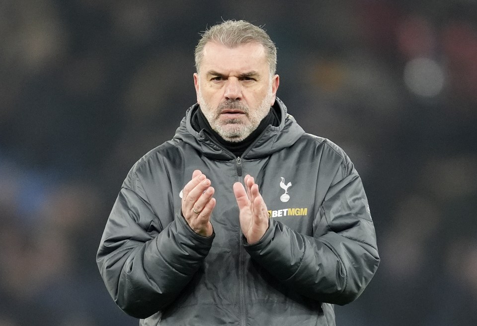
{"label": "short swept-back grey hair on the man's head", "polygon": [[226,20],[207,29],[195,47],[195,68],[199,72],[204,56],[204,47],[208,42],[216,42],[229,48],[257,42],[265,48],[270,75],[277,68],[277,48],[270,36],[260,26],[255,26],[244,20]]}

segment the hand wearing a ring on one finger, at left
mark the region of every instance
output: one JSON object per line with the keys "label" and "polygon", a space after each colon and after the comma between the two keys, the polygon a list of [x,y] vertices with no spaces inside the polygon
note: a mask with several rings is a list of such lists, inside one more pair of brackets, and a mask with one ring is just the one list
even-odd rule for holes
{"label": "hand wearing a ring on one finger, at left", "polygon": [[182,216],[190,228],[203,237],[213,233],[210,215],[216,204],[214,192],[210,180],[199,170],[194,171],[192,180],[182,190]]}

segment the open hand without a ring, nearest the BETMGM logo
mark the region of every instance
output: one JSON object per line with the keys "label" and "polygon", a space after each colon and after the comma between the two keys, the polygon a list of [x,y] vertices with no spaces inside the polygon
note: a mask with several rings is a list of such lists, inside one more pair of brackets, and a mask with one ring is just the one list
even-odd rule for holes
{"label": "open hand without a ring, nearest the BETMGM logo", "polygon": [[258,185],[248,174],[244,178],[245,188],[239,182],[234,184],[234,194],[239,205],[240,228],[249,244],[260,240],[268,229],[267,205],[258,192]]}

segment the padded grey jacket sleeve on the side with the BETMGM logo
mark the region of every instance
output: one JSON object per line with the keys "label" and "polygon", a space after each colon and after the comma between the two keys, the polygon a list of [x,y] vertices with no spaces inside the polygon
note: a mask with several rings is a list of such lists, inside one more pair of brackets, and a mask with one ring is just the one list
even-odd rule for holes
{"label": "padded grey jacket sleeve on the side with the BETMGM logo", "polygon": [[341,165],[318,209],[314,236],[270,219],[262,239],[245,245],[252,259],[290,288],[338,305],[363,292],[380,261],[361,179],[346,156]]}

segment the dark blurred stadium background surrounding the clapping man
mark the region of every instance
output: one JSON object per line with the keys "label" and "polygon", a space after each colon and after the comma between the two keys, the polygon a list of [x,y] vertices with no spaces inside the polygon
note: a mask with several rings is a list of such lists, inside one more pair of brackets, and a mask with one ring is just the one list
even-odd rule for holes
{"label": "dark blurred stadium background surrounding the clapping man", "polygon": [[0,326],[129,326],[95,255],[195,103],[199,32],[264,25],[278,96],[360,173],[382,259],[338,326],[477,325],[477,3],[0,0]]}

